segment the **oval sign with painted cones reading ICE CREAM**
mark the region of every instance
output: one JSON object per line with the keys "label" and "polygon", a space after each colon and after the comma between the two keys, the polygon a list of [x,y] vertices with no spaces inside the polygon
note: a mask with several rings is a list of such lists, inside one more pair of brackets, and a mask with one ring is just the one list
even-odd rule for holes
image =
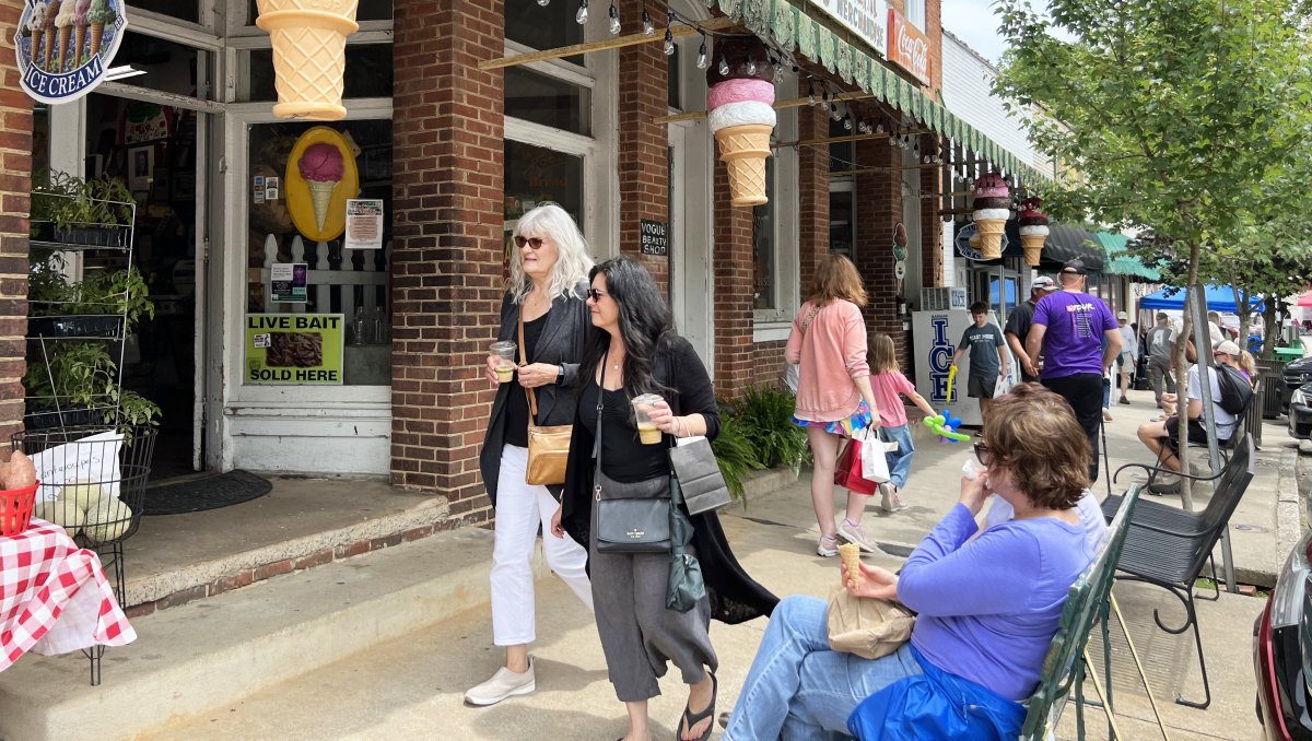
{"label": "oval sign with painted cones reading ICE CREAM", "polygon": [[126,28],[122,0],[28,0],[13,38],[22,89],[46,104],[85,96],[105,81]]}

